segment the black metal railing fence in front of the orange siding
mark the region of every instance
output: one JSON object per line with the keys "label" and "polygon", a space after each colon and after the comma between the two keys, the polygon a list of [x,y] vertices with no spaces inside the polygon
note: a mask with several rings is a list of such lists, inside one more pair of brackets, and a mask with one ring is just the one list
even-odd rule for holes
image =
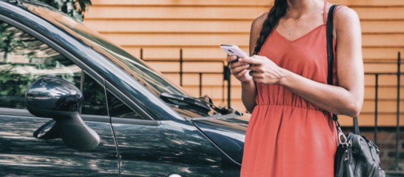
{"label": "black metal railing fence in front of the orange siding", "polygon": [[[223,74],[223,81],[222,81],[222,89],[223,89],[223,95],[222,95],[222,102],[225,101],[225,96],[224,96],[224,91],[227,89],[227,106],[230,108],[231,107],[231,83],[230,83],[230,71],[227,67],[227,63],[224,61],[207,61],[207,60],[183,60],[182,56],[182,49],[180,49],[180,57],[178,60],[146,60],[146,61],[153,61],[153,62],[179,62],[180,64],[180,70],[177,72],[163,72],[165,74],[179,74],[180,76],[180,85],[183,85],[183,74],[199,74],[199,95],[202,95],[202,75],[204,74]],[[143,50],[140,49],[140,58],[143,59]],[[183,71],[183,63],[184,62],[209,62],[209,63],[214,63],[218,62],[223,65],[223,72],[184,72]],[[397,76],[397,97],[396,97],[396,102],[397,102],[397,110],[396,110],[396,136],[395,136],[395,170],[400,170],[398,163],[399,163],[399,135],[400,135],[400,122],[399,122],[399,116],[400,116],[400,77],[402,74],[400,66],[401,66],[401,56],[400,52],[397,54],[397,61],[396,62],[364,62],[364,64],[396,64],[397,65],[397,72],[365,72],[365,75],[374,75],[375,78],[375,111],[374,111],[374,117],[375,117],[375,125],[374,125],[374,142],[377,144],[377,131],[378,131],[378,125],[377,125],[377,120],[378,120],[378,90],[379,90],[379,76],[380,75],[396,75]],[[227,82],[227,84],[225,84]],[[404,145],[403,145],[404,146]]]}

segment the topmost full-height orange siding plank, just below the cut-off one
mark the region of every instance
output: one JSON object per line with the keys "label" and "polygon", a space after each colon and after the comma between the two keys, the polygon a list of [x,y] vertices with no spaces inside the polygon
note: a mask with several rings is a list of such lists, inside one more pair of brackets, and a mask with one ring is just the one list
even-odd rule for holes
{"label": "topmost full-height orange siding plank, just below the cut-off one", "polygon": [[[361,20],[403,20],[404,7],[357,7]],[[114,7],[94,6],[86,19],[222,19],[253,20],[268,12],[266,7]],[[242,13],[240,13],[242,12]]]}

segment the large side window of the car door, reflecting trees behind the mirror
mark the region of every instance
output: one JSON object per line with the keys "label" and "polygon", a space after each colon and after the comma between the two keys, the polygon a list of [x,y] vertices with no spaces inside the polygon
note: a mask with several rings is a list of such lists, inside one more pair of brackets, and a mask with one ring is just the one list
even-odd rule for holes
{"label": "large side window of the car door, reflecting trees behind the mirror", "polygon": [[28,87],[43,76],[80,87],[81,69],[40,40],[0,21],[0,107],[26,109]]}

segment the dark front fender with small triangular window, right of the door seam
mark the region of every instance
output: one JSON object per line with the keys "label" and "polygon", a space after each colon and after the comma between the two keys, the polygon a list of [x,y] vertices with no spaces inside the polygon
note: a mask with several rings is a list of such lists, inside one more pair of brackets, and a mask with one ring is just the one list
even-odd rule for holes
{"label": "dark front fender with small triangular window, right of the door seam", "polygon": [[[110,87],[108,86],[110,85]],[[122,99],[118,98],[121,97]],[[240,166],[186,120],[156,120],[107,84],[121,176],[239,176]]]}

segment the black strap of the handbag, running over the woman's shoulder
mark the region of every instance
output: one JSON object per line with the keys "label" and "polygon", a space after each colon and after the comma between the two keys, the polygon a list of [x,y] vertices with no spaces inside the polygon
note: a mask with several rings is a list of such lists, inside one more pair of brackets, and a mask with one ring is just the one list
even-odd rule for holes
{"label": "black strap of the handbag, running over the woman's shoulder", "polygon": [[[329,85],[333,85],[333,59],[334,59],[334,54],[333,54],[333,49],[332,49],[332,28],[333,28],[333,16],[334,16],[334,11],[338,7],[338,5],[332,5],[330,7],[330,10],[328,12],[328,17],[327,17],[327,63],[328,63],[328,71],[327,71],[327,83]],[[335,121],[335,125],[337,126],[337,129],[340,130],[341,126],[338,122],[338,117],[337,114],[332,114],[332,119]],[[359,125],[358,125],[358,118],[354,117],[354,133],[359,135]]]}

